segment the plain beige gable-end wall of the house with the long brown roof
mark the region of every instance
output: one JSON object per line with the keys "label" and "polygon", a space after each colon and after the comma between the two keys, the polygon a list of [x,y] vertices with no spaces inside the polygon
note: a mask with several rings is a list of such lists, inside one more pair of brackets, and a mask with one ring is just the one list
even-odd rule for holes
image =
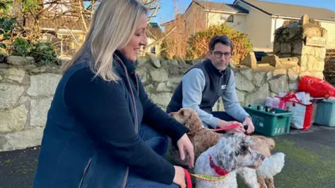
{"label": "plain beige gable-end wall of the house with the long brown roof", "polygon": [[237,2],[237,5],[249,10],[249,14],[246,16],[244,33],[249,35],[254,50],[269,51],[272,48],[271,17],[260,10],[246,6],[244,3]]}

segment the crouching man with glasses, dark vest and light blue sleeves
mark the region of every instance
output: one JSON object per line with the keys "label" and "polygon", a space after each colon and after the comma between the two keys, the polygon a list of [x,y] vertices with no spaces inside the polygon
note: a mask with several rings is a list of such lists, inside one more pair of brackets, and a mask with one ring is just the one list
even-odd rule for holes
{"label": "crouching man with glasses, dark vest and light blue sleeves", "polygon": [[[253,122],[239,105],[234,72],[228,68],[232,57],[232,41],[227,36],[215,36],[209,42],[208,59],[194,65],[183,76],[168,104],[167,112],[191,108],[198,112],[205,127],[211,129],[239,124],[231,132],[254,131]],[[212,111],[219,97],[225,111]]]}

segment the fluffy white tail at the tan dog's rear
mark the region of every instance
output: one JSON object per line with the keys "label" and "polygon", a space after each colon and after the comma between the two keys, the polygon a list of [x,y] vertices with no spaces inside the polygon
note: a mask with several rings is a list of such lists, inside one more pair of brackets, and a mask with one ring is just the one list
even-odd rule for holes
{"label": "fluffy white tail at the tan dog's rear", "polygon": [[262,178],[271,178],[281,172],[285,164],[285,154],[277,152],[271,157],[265,159],[256,170],[257,175]]}

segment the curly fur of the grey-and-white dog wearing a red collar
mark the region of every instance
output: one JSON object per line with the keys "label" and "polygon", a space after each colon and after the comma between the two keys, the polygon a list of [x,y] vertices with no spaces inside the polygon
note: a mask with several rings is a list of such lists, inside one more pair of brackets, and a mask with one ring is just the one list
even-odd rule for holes
{"label": "curly fur of the grey-and-white dog wearing a red collar", "polygon": [[[209,156],[213,163],[228,171],[224,180],[206,181],[196,179],[196,187],[237,187],[236,173],[244,168],[257,169],[262,164],[265,156],[251,149],[252,140],[244,134],[228,134],[221,136],[216,145],[202,152],[195,162],[195,173],[206,175],[217,175],[210,166]],[[248,173],[249,171],[244,171]],[[247,174],[246,174],[247,175]],[[252,175],[252,174],[251,174]],[[257,187],[257,182],[255,182]]]}

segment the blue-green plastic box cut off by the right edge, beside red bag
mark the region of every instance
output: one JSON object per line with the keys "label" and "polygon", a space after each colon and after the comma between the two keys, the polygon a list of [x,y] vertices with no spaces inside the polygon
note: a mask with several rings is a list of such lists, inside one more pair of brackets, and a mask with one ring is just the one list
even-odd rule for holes
{"label": "blue-green plastic box cut off by the right edge, beside red bag", "polygon": [[314,123],[335,127],[335,101],[322,100],[318,103]]}

